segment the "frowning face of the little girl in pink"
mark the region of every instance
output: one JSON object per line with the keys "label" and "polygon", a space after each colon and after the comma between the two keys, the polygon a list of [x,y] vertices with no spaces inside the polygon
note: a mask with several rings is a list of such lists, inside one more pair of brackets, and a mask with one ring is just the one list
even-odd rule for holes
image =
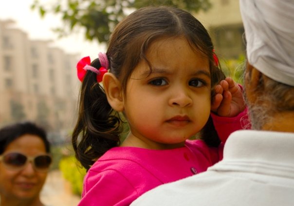
{"label": "frowning face of the little girl in pink", "polygon": [[124,99],[130,134],[123,143],[149,149],[181,147],[199,132],[210,114],[207,57],[183,37],[153,42],[147,59],[134,69]]}

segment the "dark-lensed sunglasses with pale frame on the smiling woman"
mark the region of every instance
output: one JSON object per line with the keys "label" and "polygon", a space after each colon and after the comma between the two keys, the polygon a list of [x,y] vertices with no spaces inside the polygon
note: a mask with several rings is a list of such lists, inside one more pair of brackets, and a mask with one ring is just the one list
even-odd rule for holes
{"label": "dark-lensed sunglasses with pale frame on the smiling woman", "polygon": [[7,169],[22,170],[29,162],[32,162],[34,169],[37,172],[46,172],[52,162],[52,157],[48,154],[41,154],[37,156],[26,156],[21,153],[7,153],[0,155],[0,161]]}

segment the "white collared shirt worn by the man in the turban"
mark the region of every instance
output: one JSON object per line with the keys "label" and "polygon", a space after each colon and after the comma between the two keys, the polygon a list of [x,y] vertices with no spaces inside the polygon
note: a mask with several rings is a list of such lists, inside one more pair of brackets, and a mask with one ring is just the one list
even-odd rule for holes
{"label": "white collared shirt worn by the man in the turban", "polygon": [[294,133],[232,133],[207,172],[148,191],[131,206],[294,206]]}

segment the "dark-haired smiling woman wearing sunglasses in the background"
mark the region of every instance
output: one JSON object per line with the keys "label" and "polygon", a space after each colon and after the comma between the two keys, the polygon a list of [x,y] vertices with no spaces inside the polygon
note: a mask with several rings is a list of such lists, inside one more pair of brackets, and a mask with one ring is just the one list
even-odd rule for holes
{"label": "dark-haired smiling woman wearing sunglasses in the background", "polygon": [[0,206],[43,206],[39,194],[51,162],[42,128],[24,122],[0,129]]}

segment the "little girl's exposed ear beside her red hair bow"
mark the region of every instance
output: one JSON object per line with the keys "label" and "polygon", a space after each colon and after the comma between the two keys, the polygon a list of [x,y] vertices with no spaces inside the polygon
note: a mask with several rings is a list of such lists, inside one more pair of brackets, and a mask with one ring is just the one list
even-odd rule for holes
{"label": "little girl's exposed ear beside her red hair bow", "polygon": [[112,73],[103,76],[103,88],[110,106],[118,112],[124,110],[124,99],[122,98],[122,87],[118,79]]}

